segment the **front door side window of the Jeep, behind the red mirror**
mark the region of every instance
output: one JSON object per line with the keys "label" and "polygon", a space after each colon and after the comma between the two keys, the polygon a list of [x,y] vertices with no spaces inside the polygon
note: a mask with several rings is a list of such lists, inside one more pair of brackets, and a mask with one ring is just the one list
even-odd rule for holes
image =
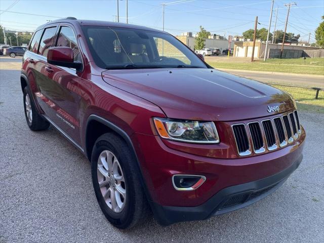
{"label": "front door side window of the Jeep, behind the red mirror", "polygon": [[61,26],[59,36],[56,42],[57,47],[69,47],[73,50],[74,62],[80,61],[81,56],[76,44],[76,38],[73,30],[67,26]]}

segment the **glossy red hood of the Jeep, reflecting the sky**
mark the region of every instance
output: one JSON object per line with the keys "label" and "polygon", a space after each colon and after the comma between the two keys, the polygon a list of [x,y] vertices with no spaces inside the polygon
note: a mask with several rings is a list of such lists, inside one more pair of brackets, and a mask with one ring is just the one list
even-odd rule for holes
{"label": "glossy red hood of the Jeep, reflecting the sky", "polygon": [[[294,108],[287,93],[216,69],[106,70],[102,77],[106,83],[159,106],[169,118],[229,121]],[[271,110],[276,106],[279,109]]]}

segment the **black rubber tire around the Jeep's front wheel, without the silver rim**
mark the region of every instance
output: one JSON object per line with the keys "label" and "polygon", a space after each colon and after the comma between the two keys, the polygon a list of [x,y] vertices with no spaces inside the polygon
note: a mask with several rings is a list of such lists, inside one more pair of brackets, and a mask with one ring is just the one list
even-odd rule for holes
{"label": "black rubber tire around the Jeep's front wheel, without the silver rim", "polygon": [[[117,158],[123,171],[126,187],[126,203],[121,212],[116,213],[108,207],[101,194],[98,182],[98,158],[104,150],[111,151]],[[143,222],[149,214],[149,206],[140,182],[140,171],[134,155],[127,143],[112,133],[100,136],[93,147],[91,156],[91,174],[98,204],[107,220],[117,228],[126,229]]]}

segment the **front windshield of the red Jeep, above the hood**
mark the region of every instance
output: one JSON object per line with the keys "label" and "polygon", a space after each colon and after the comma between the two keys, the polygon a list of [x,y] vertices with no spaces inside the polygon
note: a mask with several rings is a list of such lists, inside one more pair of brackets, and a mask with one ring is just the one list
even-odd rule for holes
{"label": "front windshield of the red Jeep, above the hood", "polygon": [[207,68],[175,37],[155,31],[84,26],[93,56],[101,68]]}

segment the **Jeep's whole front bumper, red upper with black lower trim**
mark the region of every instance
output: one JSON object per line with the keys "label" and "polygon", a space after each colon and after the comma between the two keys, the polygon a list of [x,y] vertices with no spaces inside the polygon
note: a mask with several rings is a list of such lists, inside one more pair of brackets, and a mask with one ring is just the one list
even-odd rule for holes
{"label": "Jeep's whole front bumper, red upper with black lower trim", "polygon": [[[301,163],[305,136],[302,129],[302,135],[284,148],[235,159],[179,151],[158,136],[134,134],[132,140],[154,216],[161,224],[168,225],[206,219],[265,197],[282,185]],[[172,184],[172,176],[176,174],[201,175],[207,179],[196,190],[178,191]]]}

